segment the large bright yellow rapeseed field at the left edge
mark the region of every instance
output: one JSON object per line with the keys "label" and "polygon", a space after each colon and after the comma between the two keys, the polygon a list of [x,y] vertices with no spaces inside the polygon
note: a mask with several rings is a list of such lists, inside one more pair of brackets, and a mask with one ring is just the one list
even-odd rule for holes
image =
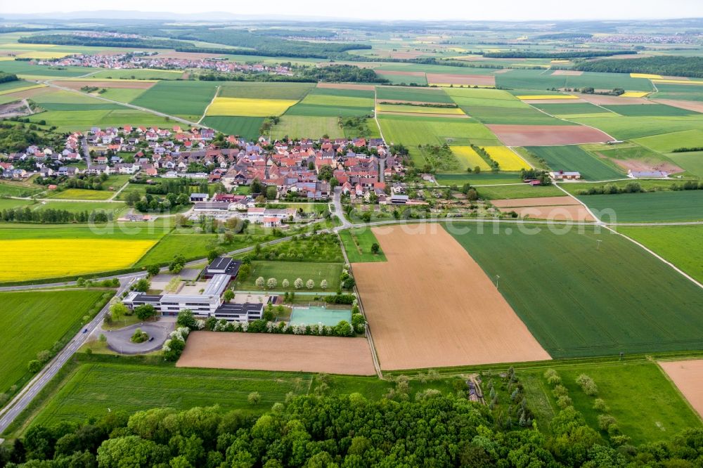
{"label": "large bright yellow rapeseed field at the left edge", "polygon": [[61,278],[129,268],[155,240],[35,239],[0,242],[0,281]]}

